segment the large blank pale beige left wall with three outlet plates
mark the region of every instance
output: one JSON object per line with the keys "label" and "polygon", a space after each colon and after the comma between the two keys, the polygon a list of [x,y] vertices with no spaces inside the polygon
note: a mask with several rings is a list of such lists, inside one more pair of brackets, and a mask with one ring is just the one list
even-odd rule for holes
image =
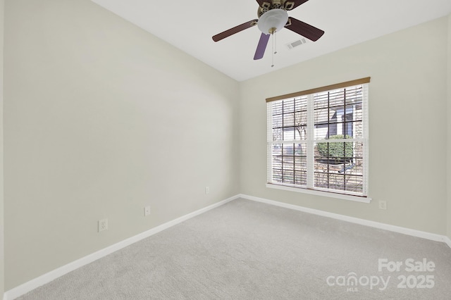
{"label": "large blank pale beige left wall with three outlet plates", "polygon": [[89,0],[5,10],[6,289],[239,192],[235,80]]}

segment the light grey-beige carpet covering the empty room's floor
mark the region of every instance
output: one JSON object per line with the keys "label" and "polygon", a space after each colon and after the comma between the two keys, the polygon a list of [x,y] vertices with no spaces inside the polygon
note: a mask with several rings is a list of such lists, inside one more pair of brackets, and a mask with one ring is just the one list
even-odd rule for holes
{"label": "light grey-beige carpet covering the empty room's floor", "polygon": [[237,199],[19,299],[451,299],[451,249]]}

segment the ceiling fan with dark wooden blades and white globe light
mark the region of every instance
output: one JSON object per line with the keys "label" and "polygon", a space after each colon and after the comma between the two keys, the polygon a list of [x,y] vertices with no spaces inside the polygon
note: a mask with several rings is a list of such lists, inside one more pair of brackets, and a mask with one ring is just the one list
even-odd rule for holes
{"label": "ceiling fan with dark wooden blades and white globe light", "polygon": [[258,19],[250,20],[249,22],[218,33],[218,35],[213,36],[213,40],[214,42],[221,41],[221,39],[225,39],[226,37],[230,37],[230,35],[235,35],[237,32],[257,25],[261,31],[261,36],[257,50],[255,51],[254,60],[263,58],[270,35],[279,32],[283,27],[316,42],[324,34],[323,30],[295,18],[288,17],[287,13],[287,11],[297,8],[297,6],[307,1],[309,0],[257,0],[259,4],[257,11]]}

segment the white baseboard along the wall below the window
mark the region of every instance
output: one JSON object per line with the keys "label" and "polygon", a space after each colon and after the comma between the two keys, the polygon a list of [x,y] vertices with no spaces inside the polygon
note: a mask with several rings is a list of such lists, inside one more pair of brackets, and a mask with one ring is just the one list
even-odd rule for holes
{"label": "white baseboard along the wall below the window", "polygon": [[262,202],[262,203],[266,203],[266,204],[271,204],[274,206],[290,208],[295,211],[303,211],[304,213],[312,213],[314,215],[321,215],[323,217],[333,218],[333,219],[342,220],[342,221],[355,223],[355,224],[359,224],[359,225],[365,225],[365,226],[369,226],[369,227],[375,227],[378,229],[402,233],[404,235],[412,235],[413,237],[421,237],[423,239],[431,239],[432,241],[435,241],[435,242],[444,242],[451,248],[451,240],[444,235],[437,235],[437,234],[431,233],[431,232],[424,232],[424,231],[420,231],[420,230],[414,230],[414,229],[409,229],[409,228],[395,226],[395,225],[378,223],[378,222],[374,222],[374,221],[370,221],[370,220],[364,220],[364,219],[360,219],[360,218],[350,217],[347,215],[340,215],[338,213],[329,213],[327,211],[319,211],[319,210],[313,209],[313,208],[286,204],[286,203],[279,202],[279,201],[268,200],[268,199],[259,198],[259,197],[255,197],[255,196],[249,196],[249,195],[245,195],[245,194],[240,194],[240,198],[257,201],[257,202]]}

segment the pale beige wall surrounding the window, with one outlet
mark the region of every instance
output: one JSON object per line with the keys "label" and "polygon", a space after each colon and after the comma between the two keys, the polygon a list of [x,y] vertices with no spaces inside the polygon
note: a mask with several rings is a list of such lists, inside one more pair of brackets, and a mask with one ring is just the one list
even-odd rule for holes
{"label": "pale beige wall surrounding the window, with one outlet", "polygon": [[[240,191],[445,234],[447,26],[440,18],[241,82]],[[265,99],[367,76],[371,204],[266,188]]]}

